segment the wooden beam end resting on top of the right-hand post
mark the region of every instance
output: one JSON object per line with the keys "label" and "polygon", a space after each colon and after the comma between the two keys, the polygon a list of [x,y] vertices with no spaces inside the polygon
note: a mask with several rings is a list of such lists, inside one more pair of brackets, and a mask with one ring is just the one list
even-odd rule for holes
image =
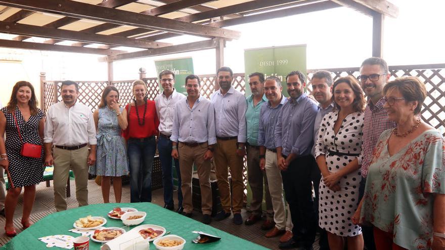
{"label": "wooden beam end resting on top of the right-hand post", "polygon": [[373,12],[396,18],[398,16],[397,6],[386,0],[331,0],[339,5],[352,8],[367,16],[372,17]]}

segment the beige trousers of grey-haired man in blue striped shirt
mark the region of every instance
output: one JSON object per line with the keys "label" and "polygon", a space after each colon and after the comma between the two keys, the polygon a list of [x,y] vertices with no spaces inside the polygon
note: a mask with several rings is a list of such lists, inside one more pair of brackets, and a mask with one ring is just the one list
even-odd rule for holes
{"label": "beige trousers of grey-haired man in blue striped shirt", "polygon": [[[286,229],[292,231],[293,224],[290,216],[289,205],[285,206],[283,197],[283,180],[281,171],[278,168],[277,153],[266,150],[266,176],[269,182],[269,191],[271,193],[272,206],[274,207],[275,227],[279,230]],[[288,210],[286,219],[286,209]]]}

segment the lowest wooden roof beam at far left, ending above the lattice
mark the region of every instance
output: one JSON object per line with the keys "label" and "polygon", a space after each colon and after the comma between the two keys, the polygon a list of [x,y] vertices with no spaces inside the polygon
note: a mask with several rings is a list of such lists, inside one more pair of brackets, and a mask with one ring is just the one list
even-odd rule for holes
{"label": "lowest wooden roof beam at far left, ending above the lattice", "polygon": [[115,54],[125,53],[124,51],[117,51],[114,49],[74,47],[74,46],[67,46],[67,45],[46,44],[46,43],[26,42],[26,41],[14,41],[14,40],[5,40],[5,39],[0,39],[0,47],[35,49],[37,51],[86,53],[86,54],[96,54],[96,55],[115,55]]}

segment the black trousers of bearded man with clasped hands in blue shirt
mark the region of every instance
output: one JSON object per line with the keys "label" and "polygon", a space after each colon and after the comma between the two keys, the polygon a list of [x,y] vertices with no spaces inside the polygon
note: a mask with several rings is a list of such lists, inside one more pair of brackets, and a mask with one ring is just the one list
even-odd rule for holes
{"label": "black trousers of bearded man with clasped hands in blue shirt", "polygon": [[302,156],[293,160],[286,171],[281,171],[286,201],[294,224],[293,238],[306,247],[314,243],[317,229],[311,180],[314,164],[313,156]]}

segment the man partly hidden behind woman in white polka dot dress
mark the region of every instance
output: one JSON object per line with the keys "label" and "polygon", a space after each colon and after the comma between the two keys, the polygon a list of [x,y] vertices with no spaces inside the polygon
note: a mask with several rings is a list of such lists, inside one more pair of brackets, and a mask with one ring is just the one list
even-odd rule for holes
{"label": "man partly hidden behind woman in white polka dot dress", "polygon": [[[326,114],[332,112],[332,109],[334,108],[334,104],[331,99],[332,83],[333,81],[331,72],[325,70],[320,70],[315,72],[311,79],[312,90],[313,90],[312,93],[314,94],[314,97],[317,100],[317,102],[319,102],[319,109],[317,112],[317,116],[315,117],[315,123],[314,123],[314,146],[312,148],[313,156],[315,156],[315,142],[317,141],[318,138],[318,130],[320,129],[323,117]],[[312,172],[312,182],[314,184],[314,191],[315,191],[314,205],[315,205],[315,212],[317,213],[317,226],[320,232],[319,245],[321,250],[329,250],[328,235],[326,233],[326,230],[320,228],[320,226],[318,225],[320,178],[321,178],[321,172],[316,162],[316,166],[314,166]]]}

